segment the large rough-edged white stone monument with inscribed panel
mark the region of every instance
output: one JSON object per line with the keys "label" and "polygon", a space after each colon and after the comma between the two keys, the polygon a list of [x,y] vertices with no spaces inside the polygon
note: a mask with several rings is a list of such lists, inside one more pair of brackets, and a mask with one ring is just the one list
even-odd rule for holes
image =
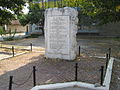
{"label": "large rough-edged white stone monument with inscribed panel", "polygon": [[78,12],[70,7],[45,11],[45,56],[74,60],[77,55]]}

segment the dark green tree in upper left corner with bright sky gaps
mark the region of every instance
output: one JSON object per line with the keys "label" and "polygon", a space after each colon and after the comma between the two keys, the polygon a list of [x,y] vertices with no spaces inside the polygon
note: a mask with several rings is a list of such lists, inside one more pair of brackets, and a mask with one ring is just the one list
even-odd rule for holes
{"label": "dark green tree in upper left corner with bright sky gaps", "polygon": [[23,5],[25,0],[0,0],[0,25],[8,24],[22,14]]}

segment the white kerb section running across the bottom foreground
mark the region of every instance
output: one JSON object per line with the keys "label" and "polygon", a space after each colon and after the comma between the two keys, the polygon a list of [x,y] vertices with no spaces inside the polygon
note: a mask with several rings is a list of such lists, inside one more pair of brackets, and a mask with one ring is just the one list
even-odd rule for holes
{"label": "white kerb section running across the bottom foreground", "polygon": [[30,90],[105,90],[105,87],[95,87],[94,84],[84,82],[65,82],[35,86]]}

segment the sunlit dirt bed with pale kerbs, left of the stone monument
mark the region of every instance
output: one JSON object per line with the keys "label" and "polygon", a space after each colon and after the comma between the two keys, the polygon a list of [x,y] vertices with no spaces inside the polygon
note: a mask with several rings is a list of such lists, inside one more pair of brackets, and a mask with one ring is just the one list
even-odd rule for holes
{"label": "sunlit dirt bed with pale kerbs, left of the stone monument", "polygon": [[[12,50],[13,46],[14,46],[14,56],[28,53],[31,51],[31,46],[17,46],[17,45],[1,44],[0,60],[13,56],[13,50]],[[37,51],[37,52],[45,51],[45,48],[32,46],[32,51]]]}

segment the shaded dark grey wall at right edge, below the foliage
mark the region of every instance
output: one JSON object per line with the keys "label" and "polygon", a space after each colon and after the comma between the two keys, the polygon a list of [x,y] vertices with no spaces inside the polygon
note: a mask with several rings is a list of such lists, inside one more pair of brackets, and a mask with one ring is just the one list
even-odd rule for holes
{"label": "shaded dark grey wall at right edge, below the foliage", "polygon": [[120,37],[120,22],[109,23],[97,27],[100,36]]}

